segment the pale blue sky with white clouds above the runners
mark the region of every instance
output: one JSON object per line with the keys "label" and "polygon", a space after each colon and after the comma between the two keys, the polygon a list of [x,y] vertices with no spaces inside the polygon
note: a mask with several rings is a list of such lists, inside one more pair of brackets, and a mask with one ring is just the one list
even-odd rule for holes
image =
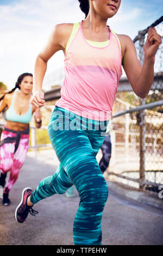
{"label": "pale blue sky with white clouds above the runners", "polygon": [[[162,6],[163,0],[122,0],[108,25],[134,39],[162,16]],[[20,74],[33,73],[36,56],[52,28],[82,19],[78,0],[0,0],[0,81],[12,88]],[[49,60],[47,75],[63,65],[64,54],[59,51]]]}

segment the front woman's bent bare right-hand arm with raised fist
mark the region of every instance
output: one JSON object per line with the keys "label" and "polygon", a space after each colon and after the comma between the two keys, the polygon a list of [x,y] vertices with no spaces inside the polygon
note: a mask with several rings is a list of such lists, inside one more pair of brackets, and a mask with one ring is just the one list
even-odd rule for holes
{"label": "front woman's bent bare right-hand arm with raised fist", "polygon": [[145,98],[153,83],[155,54],[161,44],[161,36],[155,28],[148,31],[148,38],[144,46],[145,59],[141,66],[137,58],[136,49],[129,36],[121,35],[121,43],[124,49],[123,68],[135,94]]}

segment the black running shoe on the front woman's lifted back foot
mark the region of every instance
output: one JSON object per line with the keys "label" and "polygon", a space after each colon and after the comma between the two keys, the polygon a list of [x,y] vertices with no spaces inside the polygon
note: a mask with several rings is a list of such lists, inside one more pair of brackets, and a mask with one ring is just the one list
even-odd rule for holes
{"label": "black running shoe on the front woman's lifted back foot", "polygon": [[30,194],[32,192],[33,191],[30,187],[26,187],[22,191],[21,202],[20,202],[20,204],[18,204],[16,211],[15,211],[15,218],[16,218],[16,221],[19,223],[23,223],[26,220],[28,213],[30,213],[33,216],[35,216],[36,214],[39,213],[39,212],[33,210],[33,208],[32,208],[33,206],[27,205],[27,198],[30,196]]}

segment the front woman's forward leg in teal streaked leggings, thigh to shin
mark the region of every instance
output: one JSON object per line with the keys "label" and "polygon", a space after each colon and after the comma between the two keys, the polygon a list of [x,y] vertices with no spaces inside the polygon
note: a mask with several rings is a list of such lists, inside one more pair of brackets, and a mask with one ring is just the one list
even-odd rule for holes
{"label": "front woman's forward leg in teal streaked leggings, thigh to shin", "polygon": [[95,150],[83,131],[51,132],[51,136],[55,137],[53,147],[58,159],[80,197],[73,227],[74,245],[101,245],[101,220],[108,187],[98,166]]}

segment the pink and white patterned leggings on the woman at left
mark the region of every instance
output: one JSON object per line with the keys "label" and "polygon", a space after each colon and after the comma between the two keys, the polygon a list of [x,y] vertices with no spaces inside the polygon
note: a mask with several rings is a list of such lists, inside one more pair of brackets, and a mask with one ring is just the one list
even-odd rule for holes
{"label": "pink and white patterned leggings on the woman at left", "polygon": [[[3,131],[1,135],[1,141],[8,137],[14,137],[16,134],[14,132]],[[5,143],[0,147],[0,170],[3,174],[10,172],[10,177],[7,185],[4,188],[4,193],[8,193],[11,187],[15,184],[20,169],[26,159],[27,150],[29,148],[29,134],[21,134],[20,143],[16,152],[15,144]]]}

